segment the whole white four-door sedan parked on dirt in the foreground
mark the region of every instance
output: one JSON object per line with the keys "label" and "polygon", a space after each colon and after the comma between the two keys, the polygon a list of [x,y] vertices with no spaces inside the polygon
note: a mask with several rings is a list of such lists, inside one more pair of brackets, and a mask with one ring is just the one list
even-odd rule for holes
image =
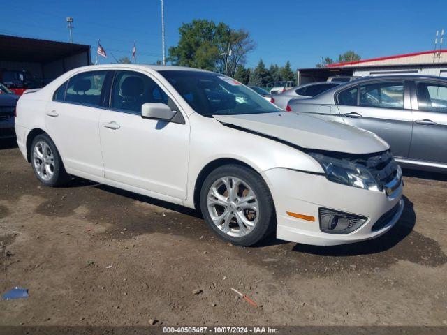
{"label": "whole white four-door sedan parked on dirt in the foreground", "polygon": [[73,175],[196,208],[240,246],[372,239],[402,214],[386,142],[204,70],[76,68],[20,98],[15,131],[46,186]]}

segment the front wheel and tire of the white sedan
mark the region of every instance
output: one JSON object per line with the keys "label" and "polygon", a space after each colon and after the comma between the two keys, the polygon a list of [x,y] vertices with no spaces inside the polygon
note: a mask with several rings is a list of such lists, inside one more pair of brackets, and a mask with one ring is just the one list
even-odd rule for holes
{"label": "front wheel and tire of the white sedan", "polygon": [[211,172],[200,190],[205,222],[224,241],[251,246],[274,229],[274,204],[262,177],[242,165]]}

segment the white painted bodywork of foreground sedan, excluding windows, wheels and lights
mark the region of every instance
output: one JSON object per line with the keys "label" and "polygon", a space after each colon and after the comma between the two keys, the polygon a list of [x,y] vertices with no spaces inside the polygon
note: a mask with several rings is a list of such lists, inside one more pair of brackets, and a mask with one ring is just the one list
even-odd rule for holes
{"label": "white painted bodywork of foreground sedan, excluding windows, wheels and lights", "polygon": [[[52,101],[54,91],[73,75],[114,69],[151,77],[175,101],[185,124]],[[403,209],[402,184],[392,195],[337,184],[322,175],[320,163],[299,149],[349,154],[388,149],[388,144],[376,135],[280,110],[272,114],[203,117],[158,70],[193,69],[128,64],[87,66],[71,70],[43,89],[22,96],[15,129],[23,156],[29,155],[29,134],[40,129],[56,144],[69,174],[190,208],[196,206],[196,181],[203,168],[221,158],[237,160],[265,180],[277,214],[277,237],[286,241],[330,245],[371,239],[388,231],[399,218]],[[110,124],[119,128],[108,128]],[[377,218],[397,203],[401,204],[400,210],[393,219],[372,232]],[[320,207],[361,214],[368,221],[349,234],[324,233],[318,224]],[[288,216],[287,211],[315,216],[316,221]]]}

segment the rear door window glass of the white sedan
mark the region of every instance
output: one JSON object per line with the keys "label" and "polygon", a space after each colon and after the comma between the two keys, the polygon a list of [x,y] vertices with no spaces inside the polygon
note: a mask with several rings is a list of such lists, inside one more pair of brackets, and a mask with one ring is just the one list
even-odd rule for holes
{"label": "rear door window glass of the white sedan", "polygon": [[101,89],[107,71],[85,72],[68,80],[65,101],[82,105],[100,105]]}

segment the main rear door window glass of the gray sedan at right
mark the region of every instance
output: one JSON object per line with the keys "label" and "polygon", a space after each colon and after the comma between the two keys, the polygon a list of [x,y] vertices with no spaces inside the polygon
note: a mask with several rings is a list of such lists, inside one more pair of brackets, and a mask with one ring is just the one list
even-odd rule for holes
{"label": "main rear door window glass of the gray sedan at right", "polygon": [[404,107],[403,82],[376,82],[360,86],[360,106],[379,108]]}

